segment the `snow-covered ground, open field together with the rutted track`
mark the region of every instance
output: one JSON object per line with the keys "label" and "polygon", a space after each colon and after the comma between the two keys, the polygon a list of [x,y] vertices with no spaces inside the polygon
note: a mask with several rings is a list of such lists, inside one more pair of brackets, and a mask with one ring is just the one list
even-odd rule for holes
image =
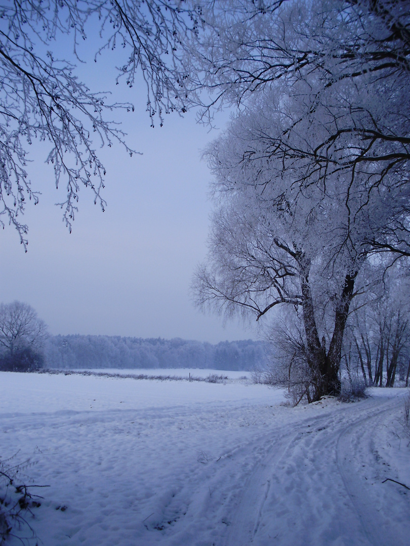
{"label": "snow-covered ground, open field together with the rutted track", "polygon": [[0,389],[2,460],[49,485],[44,546],[409,543],[404,389],[297,408],[239,379],[1,372]]}

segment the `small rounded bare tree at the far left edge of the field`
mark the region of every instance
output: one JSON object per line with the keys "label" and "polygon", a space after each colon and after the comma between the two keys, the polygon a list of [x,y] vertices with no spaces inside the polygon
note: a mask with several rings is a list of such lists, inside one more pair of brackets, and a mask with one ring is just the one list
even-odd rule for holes
{"label": "small rounded bare tree at the far left edge of the field", "polygon": [[33,307],[20,301],[0,304],[0,369],[41,367],[47,327]]}

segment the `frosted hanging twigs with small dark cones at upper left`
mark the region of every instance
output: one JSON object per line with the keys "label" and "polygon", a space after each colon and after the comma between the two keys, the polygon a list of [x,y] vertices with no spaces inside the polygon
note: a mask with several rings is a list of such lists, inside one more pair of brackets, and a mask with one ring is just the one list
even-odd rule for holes
{"label": "frosted hanging twigs with small dark cones at upper left", "polygon": [[[66,186],[61,203],[71,229],[81,186],[101,196],[104,166],[97,149],[121,143],[124,134],[110,121],[116,109],[132,104],[110,102],[75,75],[79,44],[96,44],[96,61],[104,52],[124,48],[119,80],[130,87],[137,72],[147,87],[147,110],[162,123],[169,111],[186,110],[186,72],[181,66],[182,37],[195,34],[195,2],[183,0],[22,0],[0,5],[0,225],[14,225],[26,247],[26,203],[38,201],[27,170],[34,139],[49,144],[46,162],[54,165],[55,184]],[[72,39],[74,56],[53,53],[58,40]]]}

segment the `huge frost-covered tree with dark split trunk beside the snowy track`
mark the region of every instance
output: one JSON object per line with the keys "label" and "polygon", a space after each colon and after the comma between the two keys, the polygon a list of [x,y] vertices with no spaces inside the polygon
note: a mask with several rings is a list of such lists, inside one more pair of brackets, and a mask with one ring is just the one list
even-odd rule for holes
{"label": "huge frost-covered tree with dark split trunk beside the snowy track", "polygon": [[214,102],[243,112],[207,152],[220,208],[197,301],[302,307],[317,397],[338,390],[366,260],[409,254],[410,4],[230,7],[198,48]]}

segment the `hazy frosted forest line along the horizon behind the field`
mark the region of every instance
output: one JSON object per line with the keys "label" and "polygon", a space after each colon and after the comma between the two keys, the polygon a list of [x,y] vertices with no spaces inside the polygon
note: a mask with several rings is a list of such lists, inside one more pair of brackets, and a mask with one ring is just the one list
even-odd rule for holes
{"label": "hazy frosted forest line along the horizon behind the field", "polygon": [[216,345],[179,338],[141,339],[120,336],[52,336],[45,365],[76,368],[211,368],[251,370],[267,363],[263,341],[222,341]]}

